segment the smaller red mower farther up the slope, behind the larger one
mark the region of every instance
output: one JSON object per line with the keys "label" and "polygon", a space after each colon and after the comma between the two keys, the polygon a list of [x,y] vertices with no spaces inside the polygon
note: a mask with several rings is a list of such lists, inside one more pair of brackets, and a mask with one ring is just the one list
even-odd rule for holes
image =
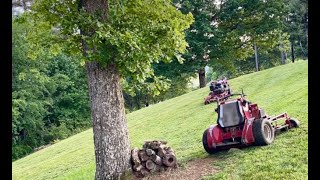
{"label": "smaller red mower farther up the slope, behind the larger one", "polygon": [[210,93],[204,98],[204,105],[217,101],[217,99],[227,99],[231,95],[231,89],[226,78],[210,83]]}

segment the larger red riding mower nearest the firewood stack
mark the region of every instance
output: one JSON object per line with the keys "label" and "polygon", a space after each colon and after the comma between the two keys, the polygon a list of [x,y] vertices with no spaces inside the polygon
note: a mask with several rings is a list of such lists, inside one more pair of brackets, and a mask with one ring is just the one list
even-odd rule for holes
{"label": "larger red riding mower nearest the firewood stack", "polygon": [[[203,147],[209,154],[248,145],[268,145],[273,142],[275,133],[299,127],[299,121],[286,112],[271,117],[257,104],[247,101],[243,92],[233,95],[240,97],[217,101],[217,124],[203,133]],[[281,120],[284,123],[279,125]]]}

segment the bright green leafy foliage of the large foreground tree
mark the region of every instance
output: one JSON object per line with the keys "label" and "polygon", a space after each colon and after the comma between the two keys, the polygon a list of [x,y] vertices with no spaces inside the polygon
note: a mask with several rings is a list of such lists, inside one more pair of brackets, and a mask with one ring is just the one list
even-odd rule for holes
{"label": "bright green leafy foliage of the large foreground tree", "polygon": [[[84,11],[73,0],[38,0],[32,10],[33,17],[59,29],[58,42],[68,44],[72,53],[81,54],[81,42],[85,41],[88,49],[82,60],[112,61],[122,77],[134,82],[148,77],[155,84],[160,80],[154,76],[153,62],[170,62],[172,57],[183,61],[181,54],[187,46],[184,30],[193,22],[190,13],[185,16],[170,1],[160,0],[113,0],[108,6],[108,18],[102,18],[101,12]],[[93,30],[95,33],[90,33]]]}

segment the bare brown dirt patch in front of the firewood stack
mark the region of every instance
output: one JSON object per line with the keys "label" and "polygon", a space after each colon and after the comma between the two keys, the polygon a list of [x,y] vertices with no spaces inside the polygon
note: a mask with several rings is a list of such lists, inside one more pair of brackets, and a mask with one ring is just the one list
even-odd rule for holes
{"label": "bare brown dirt patch in front of the firewood stack", "polygon": [[[201,177],[214,174],[217,170],[213,167],[213,158],[208,157],[204,159],[196,159],[189,161],[185,167],[178,167],[171,171],[166,171],[162,173],[155,173],[149,175],[143,180],[161,180],[161,179],[171,179],[171,180],[197,180]],[[138,179],[138,178],[136,178]]]}

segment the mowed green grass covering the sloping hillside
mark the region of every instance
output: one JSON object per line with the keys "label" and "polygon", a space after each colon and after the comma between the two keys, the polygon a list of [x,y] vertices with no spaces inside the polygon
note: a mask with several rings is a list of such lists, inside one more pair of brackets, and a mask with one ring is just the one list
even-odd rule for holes
{"label": "mowed green grass covering the sloping hillside", "polygon": [[[145,140],[168,141],[180,164],[195,158],[214,158],[219,171],[203,179],[308,179],[308,64],[297,61],[231,79],[234,93],[243,88],[247,98],[267,114],[288,112],[301,126],[276,136],[268,146],[208,155],[203,131],[216,123],[216,104],[204,105],[209,88],[151,105],[127,115],[132,147]],[[60,141],[12,163],[14,180],[94,179],[92,129]]]}

